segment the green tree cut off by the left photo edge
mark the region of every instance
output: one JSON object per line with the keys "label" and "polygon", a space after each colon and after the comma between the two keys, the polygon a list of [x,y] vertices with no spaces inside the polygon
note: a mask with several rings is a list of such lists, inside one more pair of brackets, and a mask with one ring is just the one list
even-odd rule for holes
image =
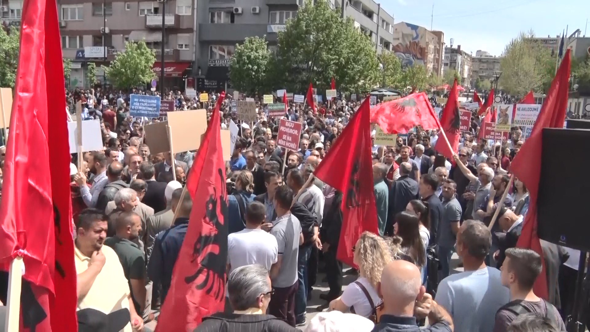
{"label": "green tree cut off by the left photo edge", "polygon": [[20,33],[0,26],[0,87],[14,87],[17,80]]}

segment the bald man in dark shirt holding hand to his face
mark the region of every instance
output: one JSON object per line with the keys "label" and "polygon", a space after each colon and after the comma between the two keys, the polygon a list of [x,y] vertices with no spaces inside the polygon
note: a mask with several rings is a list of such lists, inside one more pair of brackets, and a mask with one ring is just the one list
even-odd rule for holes
{"label": "bald man in dark shirt holding hand to his face", "polygon": [[[420,270],[407,261],[393,261],[383,269],[377,293],[383,299],[379,323],[372,332],[453,332],[453,319],[422,286]],[[417,319],[428,316],[430,327]]]}

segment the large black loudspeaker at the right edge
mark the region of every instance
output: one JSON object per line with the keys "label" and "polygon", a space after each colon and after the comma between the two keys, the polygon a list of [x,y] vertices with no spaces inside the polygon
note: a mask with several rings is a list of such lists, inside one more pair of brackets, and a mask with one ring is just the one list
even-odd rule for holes
{"label": "large black loudspeaker at the right edge", "polygon": [[[569,125],[569,120],[568,120]],[[569,248],[590,250],[590,129],[545,128],[537,198],[537,235]]]}

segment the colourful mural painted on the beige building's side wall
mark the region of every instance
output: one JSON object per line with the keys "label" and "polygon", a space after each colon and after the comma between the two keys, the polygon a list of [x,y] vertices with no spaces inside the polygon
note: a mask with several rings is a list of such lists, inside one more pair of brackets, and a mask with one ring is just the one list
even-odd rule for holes
{"label": "colourful mural painted on the beige building's side wall", "polygon": [[427,57],[427,30],[406,22],[396,24],[395,28],[398,43],[394,45],[393,51],[402,60],[402,67],[424,65]]}

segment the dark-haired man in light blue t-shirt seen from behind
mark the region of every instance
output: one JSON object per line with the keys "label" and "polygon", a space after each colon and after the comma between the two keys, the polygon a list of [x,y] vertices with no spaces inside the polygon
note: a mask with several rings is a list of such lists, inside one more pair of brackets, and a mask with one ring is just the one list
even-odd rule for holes
{"label": "dark-haired man in light blue t-shirt seen from behind", "polygon": [[500,271],[486,265],[491,232],[476,220],[466,220],[457,232],[455,248],[464,272],[447,276],[438,284],[436,301],[451,315],[457,331],[492,332],[496,312],[510,301]]}

